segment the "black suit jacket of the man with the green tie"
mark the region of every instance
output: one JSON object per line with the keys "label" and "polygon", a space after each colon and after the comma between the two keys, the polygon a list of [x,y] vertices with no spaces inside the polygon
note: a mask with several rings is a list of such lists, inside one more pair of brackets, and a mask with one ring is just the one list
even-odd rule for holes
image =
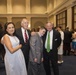
{"label": "black suit jacket of the man with the green tie", "polygon": [[[47,35],[47,32],[45,33],[45,35],[43,36],[43,48],[44,48],[44,53],[46,52],[45,50],[45,41],[46,41],[46,35]],[[60,33],[56,30],[53,29],[53,41],[52,41],[52,55],[53,57],[57,56],[57,48],[60,46],[61,44],[61,36],[60,36]]]}

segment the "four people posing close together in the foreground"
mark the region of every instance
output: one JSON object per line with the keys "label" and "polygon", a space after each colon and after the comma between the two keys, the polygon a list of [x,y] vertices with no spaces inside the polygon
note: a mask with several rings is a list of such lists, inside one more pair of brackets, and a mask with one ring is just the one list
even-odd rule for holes
{"label": "four people posing close together in the foreground", "polygon": [[[5,48],[5,68],[7,75],[59,75],[58,47],[61,36],[53,29],[53,23],[47,22],[38,32],[28,30],[28,20],[23,18],[21,27],[15,29],[13,22],[4,25],[1,43]],[[52,66],[51,66],[52,64]]]}

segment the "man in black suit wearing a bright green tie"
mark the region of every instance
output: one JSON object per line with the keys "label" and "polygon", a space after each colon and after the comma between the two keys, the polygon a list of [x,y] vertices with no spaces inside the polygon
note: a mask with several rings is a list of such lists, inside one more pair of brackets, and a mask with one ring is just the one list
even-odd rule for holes
{"label": "man in black suit wearing a bright green tie", "polygon": [[[47,32],[43,36],[44,42],[44,68],[46,75],[51,75],[51,64],[53,68],[54,75],[59,75],[58,69],[58,47],[61,43],[60,33],[53,29],[53,23],[48,22],[46,24]],[[48,41],[48,34],[50,35],[50,40]],[[49,44],[48,44],[49,43]],[[49,48],[48,48],[49,46]]]}

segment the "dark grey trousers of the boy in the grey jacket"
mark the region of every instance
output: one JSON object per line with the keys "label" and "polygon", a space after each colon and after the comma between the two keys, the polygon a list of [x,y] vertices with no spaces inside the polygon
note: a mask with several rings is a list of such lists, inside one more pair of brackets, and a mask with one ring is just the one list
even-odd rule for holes
{"label": "dark grey trousers of the boy in the grey jacket", "polygon": [[28,75],[46,75],[43,63],[29,62]]}

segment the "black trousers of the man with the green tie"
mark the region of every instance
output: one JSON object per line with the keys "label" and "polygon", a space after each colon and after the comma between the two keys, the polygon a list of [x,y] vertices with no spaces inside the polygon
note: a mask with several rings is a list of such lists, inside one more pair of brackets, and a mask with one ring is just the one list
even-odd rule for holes
{"label": "black trousers of the man with the green tie", "polygon": [[51,75],[51,67],[53,69],[54,75],[59,75],[57,60],[57,55],[55,56],[53,54],[53,51],[50,51],[49,53],[47,53],[46,51],[44,52],[44,68],[46,71],[46,75]]}

